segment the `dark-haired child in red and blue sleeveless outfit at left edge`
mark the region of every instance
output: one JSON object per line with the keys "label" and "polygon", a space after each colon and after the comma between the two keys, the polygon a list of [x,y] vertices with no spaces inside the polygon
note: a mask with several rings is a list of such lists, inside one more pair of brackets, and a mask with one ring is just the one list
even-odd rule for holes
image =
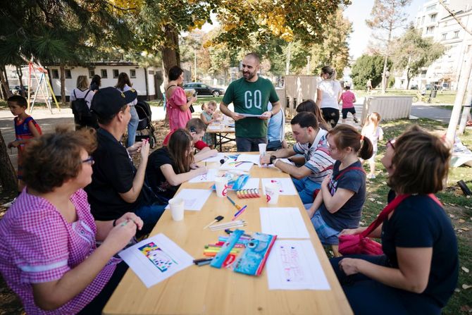
{"label": "dark-haired child in red and blue sleeveless outfit at left edge", "polygon": [[15,147],[18,149],[18,194],[23,190],[23,152],[25,144],[33,137],[41,135],[41,128],[36,121],[25,113],[27,108],[27,101],[20,95],[13,95],[6,101],[8,108],[15,118],[15,141],[8,143],[8,148]]}

